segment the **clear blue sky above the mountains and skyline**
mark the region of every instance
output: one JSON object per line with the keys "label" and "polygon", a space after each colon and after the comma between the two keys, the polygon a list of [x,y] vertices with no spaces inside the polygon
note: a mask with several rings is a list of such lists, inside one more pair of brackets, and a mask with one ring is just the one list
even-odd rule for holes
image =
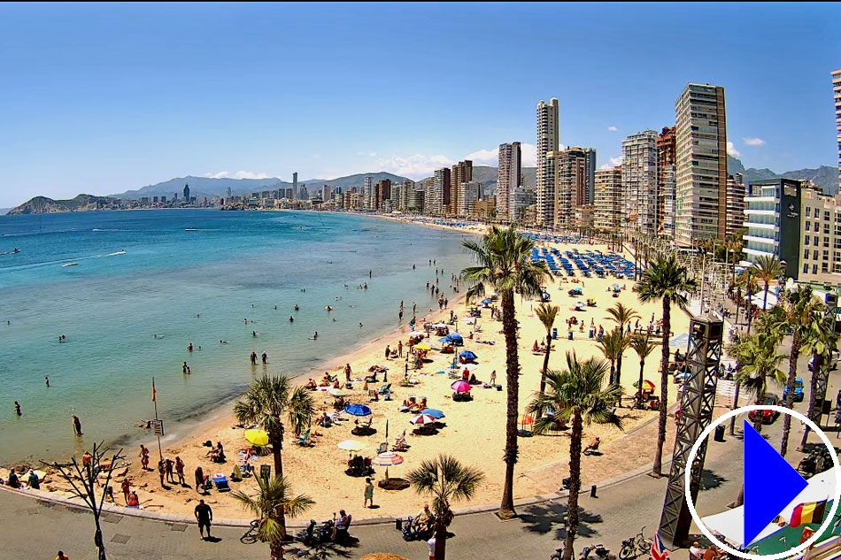
{"label": "clear blue sky above the mountains and skyline", "polygon": [[606,165],[690,81],[726,88],[746,166],[835,165],[838,29],[837,4],[0,4],[0,206],[496,165],[552,96]]}

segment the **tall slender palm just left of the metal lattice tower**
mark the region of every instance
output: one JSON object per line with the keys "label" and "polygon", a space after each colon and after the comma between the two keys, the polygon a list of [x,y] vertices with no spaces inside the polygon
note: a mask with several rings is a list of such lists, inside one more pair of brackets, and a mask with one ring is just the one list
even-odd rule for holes
{"label": "tall slender palm just left of the metal lattice tower", "polygon": [[654,451],[652,472],[660,476],[663,467],[663,443],[666,441],[666,410],[668,405],[668,338],[671,334],[671,311],[674,303],[681,310],[689,305],[686,294],[698,287],[689,277],[686,267],[677,262],[675,255],[660,256],[643,272],[634,286],[637,299],[642,303],[663,303],[663,341],[660,358],[660,421],[657,448]]}

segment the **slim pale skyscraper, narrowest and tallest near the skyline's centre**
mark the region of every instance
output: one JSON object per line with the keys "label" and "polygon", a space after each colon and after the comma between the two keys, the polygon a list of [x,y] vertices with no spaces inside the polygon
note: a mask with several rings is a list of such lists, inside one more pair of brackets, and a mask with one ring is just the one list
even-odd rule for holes
{"label": "slim pale skyscraper, narrowest and tallest near the skyline's centre", "polygon": [[[554,97],[546,104],[537,104],[537,169],[536,222],[541,226],[552,226],[555,221],[555,170],[549,154],[558,152],[559,106]],[[551,175],[551,177],[550,177]]]}

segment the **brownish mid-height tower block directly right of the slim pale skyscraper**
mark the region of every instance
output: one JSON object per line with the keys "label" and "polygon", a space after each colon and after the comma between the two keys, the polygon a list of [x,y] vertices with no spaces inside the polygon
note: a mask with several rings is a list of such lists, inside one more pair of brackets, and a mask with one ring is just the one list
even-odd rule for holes
{"label": "brownish mid-height tower block directly right of the slim pale skyscraper", "polygon": [[[555,230],[575,227],[575,209],[587,203],[589,178],[586,149],[575,146],[552,152],[555,163]],[[539,209],[538,209],[539,210]]]}

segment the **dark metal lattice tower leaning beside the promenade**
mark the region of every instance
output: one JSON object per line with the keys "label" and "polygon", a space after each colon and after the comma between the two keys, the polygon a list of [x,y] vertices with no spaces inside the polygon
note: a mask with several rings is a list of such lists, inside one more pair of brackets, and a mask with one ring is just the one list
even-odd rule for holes
{"label": "dark metal lattice tower leaning beside the promenade", "polygon": [[[683,492],[686,460],[698,436],[710,425],[715,404],[716,370],[721,361],[721,341],[724,323],[713,318],[692,318],[690,321],[689,349],[686,364],[689,378],[683,383],[680,398],[680,416],[675,435],[675,452],[668,474],[666,502],[660,518],[660,537],[672,545],[680,545],[689,536],[691,514]],[[704,472],[706,441],[690,465],[690,492],[692,501],[698,498],[701,475]]]}

